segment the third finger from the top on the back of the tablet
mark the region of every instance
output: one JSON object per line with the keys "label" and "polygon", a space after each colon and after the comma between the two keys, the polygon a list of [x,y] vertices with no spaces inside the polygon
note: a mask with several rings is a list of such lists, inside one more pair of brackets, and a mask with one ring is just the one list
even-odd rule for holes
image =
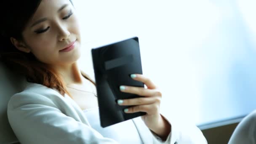
{"label": "third finger from the top on the back of the tablet", "polygon": [[145,105],[145,104],[160,104],[161,98],[159,97],[142,97],[142,98],[134,98],[134,99],[119,99],[117,100],[117,104],[123,106],[135,106],[135,105]]}

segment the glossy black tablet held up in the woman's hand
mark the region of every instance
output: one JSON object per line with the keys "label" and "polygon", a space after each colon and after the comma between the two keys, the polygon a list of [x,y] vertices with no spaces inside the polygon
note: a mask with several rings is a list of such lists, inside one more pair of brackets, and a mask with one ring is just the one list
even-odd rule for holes
{"label": "glossy black tablet held up in the woman's hand", "polygon": [[101,127],[130,120],[145,112],[125,113],[118,99],[141,97],[136,94],[121,92],[120,85],[143,87],[144,83],[133,80],[131,74],[142,74],[141,56],[138,37],[132,37],[91,50],[93,69],[98,95]]}

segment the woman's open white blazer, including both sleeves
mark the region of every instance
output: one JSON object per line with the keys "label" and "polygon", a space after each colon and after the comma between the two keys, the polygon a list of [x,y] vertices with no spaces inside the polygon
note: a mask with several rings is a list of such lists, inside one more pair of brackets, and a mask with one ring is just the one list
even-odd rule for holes
{"label": "woman's open white blazer, including both sleeves", "polygon": [[[8,120],[21,144],[117,144],[91,128],[82,109],[67,94],[29,83],[8,103]],[[133,118],[144,144],[207,144],[196,126],[171,121],[166,141],[157,139],[141,120]],[[170,120],[168,120],[170,122]]]}

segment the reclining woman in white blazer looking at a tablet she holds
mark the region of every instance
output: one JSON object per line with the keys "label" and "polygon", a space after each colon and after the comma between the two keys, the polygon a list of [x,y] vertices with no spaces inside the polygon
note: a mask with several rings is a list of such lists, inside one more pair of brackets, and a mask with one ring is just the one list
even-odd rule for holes
{"label": "reclining woman in white blazer looking at a tablet she holds", "polygon": [[22,144],[206,144],[195,126],[180,129],[160,115],[161,93],[120,86],[142,98],[118,100],[127,113],[147,115],[100,128],[93,81],[81,72],[80,30],[71,0],[2,0],[1,61],[24,75],[27,88],[8,103],[8,120]]}

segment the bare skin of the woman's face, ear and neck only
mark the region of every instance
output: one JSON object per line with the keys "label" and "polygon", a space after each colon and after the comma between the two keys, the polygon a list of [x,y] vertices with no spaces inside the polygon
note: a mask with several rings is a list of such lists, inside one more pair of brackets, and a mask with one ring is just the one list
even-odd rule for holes
{"label": "bare skin of the woman's face, ear and neck only", "polygon": [[[64,9],[57,12],[64,4]],[[68,19],[63,19],[72,15]],[[48,20],[31,27],[36,21],[47,18]],[[35,31],[46,29],[48,31],[37,34]],[[12,43],[20,51],[32,52],[35,57],[56,69],[64,77],[67,85],[82,83],[77,59],[80,57],[80,28],[75,14],[75,9],[69,0],[42,0],[32,19],[22,32],[24,40],[11,37]],[[60,52],[69,43],[76,40],[75,49],[69,52]]]}

